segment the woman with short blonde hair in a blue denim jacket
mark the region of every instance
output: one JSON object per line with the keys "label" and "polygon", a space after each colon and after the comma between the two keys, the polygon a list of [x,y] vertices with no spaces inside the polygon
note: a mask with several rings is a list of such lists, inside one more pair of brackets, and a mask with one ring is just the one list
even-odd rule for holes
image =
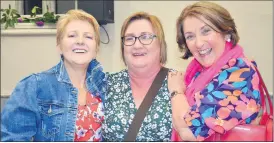
{"label": "woman with short blonde hair in a blue denim jacket", "polygon": [[96,60],[99,44],[92,15],[70,10],[59,18],[61,60],[17,84],[1,113],[1,141],[100,141],[105,74]]}

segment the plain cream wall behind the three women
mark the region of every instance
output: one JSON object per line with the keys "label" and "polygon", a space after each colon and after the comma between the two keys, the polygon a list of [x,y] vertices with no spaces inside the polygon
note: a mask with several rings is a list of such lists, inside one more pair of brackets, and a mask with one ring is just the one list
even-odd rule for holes
{"label": "plain cream wall behind the three women", "polygon": [[[14,1],[1,1],[1,8]],[[105,71],[117,72],[124,68],[120,55],[120,29],[130,14],[146,11],[161,20],[168,45],[167,67],[185,70],[189,61],[176,45],[176,18],[182,9],[194,1],[115,1],[115,23],[106,25],[110,36],[108,45],[101,45],[98,60]],[[273,91],[273,13],[271,1],[216,1],[234,17],[245,54],[257,61],[269,91]],[[102,31],[102,40],[106,40]],[[26,42],[26,39],[30,39]],[[56,64],[55,35],[1,37],[1,95],[9,94],[16,83],[33,72],[46,70]]]}

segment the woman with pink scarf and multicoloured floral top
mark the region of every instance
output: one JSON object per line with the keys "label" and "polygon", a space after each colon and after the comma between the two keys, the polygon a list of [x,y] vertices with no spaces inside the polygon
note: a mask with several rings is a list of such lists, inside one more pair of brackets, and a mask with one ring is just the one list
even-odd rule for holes
{"label": "woman with pink scarf and multicoloured floral top", "polygon": [[183,59],[194,58],[185,73],[169,74],[174,141],[204,141],[255,121],[260,109],[256,64],[238,41],[234,20],[220,5],[197,2],[182,11],[177,43]]}

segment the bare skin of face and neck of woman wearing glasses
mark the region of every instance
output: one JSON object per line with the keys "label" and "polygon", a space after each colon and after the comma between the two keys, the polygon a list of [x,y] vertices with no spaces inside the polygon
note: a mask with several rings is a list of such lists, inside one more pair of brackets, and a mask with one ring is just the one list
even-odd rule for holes
{"label": "bare skin of face and neck of woman wearing glasses", "polygon": [[[124,36],[139,37],[145,34],[155,35],[155,31],[148,20],[141,19],[130,23]],[[151,44],[143,45],[137,39],[134,45],[124,46],[124,57],[131,83],[134,83],[131,85],[134,102],[136,108],[139,108],[154,77],[161,68],[160,42],[157,38],[153,38]]]}

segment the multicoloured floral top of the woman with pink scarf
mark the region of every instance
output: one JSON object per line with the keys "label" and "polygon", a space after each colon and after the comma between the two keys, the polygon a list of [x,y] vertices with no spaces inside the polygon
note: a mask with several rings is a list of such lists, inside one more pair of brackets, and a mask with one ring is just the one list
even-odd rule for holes
{"label": "multicoloured floral top of the woman with pink scarf", "polygon": [[201,92],[185,121],[198,140],[225,133],[241,122],[250,123],[260,109],[259,79],[242,60],[223,69]]}

